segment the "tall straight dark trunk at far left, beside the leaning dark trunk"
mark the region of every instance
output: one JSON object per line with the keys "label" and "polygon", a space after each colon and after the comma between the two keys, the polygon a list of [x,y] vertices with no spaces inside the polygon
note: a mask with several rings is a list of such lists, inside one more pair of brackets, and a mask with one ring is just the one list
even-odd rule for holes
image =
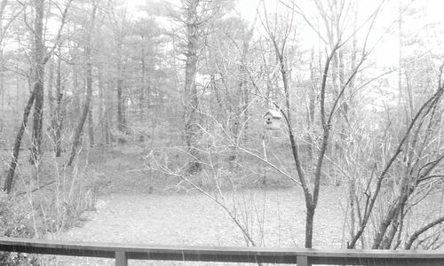
{"label": "tall straight dark trunk at far left, beside the leaning dark trunk", "polygon": [[30,163],[36,164],[39,160],[42,145],[42,128],[44,121],[44,0],[36,0],[36,19],[34,24],[34,38],[35,38],[35,51],[34,51],[34,118],[33,118],[33,130],[32,130],[32,147]]}

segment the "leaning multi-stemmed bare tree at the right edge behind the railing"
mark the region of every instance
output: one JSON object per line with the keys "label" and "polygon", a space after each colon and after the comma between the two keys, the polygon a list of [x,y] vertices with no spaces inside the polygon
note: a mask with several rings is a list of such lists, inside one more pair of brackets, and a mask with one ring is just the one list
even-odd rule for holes
{"label": "leaning multi-stemmed bare tree at the right edge behind the railing", "polygon": [[[400,231],[400,225],[405,215],[408,213],[409,200],[416,196],[416,191],[420,190],[423,184],[426,184],[433,179],[441,178],[440,175],[434,174],[434,170],[440,165],[440,162],[444,160],[444,154],[439,151],[439,153],[433,153],[432,157],[424,156],[425,160],[421,158],[423,156],[422,153],[426,153],[427,151],[425,147],[430,145],[429,141],[431,141],[432,138],[430,134],[433,132],[433,120],[443,92],[444,86],[440,80],[438,89],[430,98],[424,101],[424,104],[418,108],[414,116],[408,122],[408,126],[400,138],[399,143],[396,145],[396,149],[390,151],[392,155],[386,159],[385,166],[381,169],[380,174],[376,179],[370,178],[368,183],[365,184],[364,194],[366,195],[366,200],[358,211],[357,215],[360,217],[360,222],[356,233],[347,245],[349,248],[353,248],[356,245],[356,242],[361,238],[362,233],[366,229],[376,202],[380,197],[380,192],[384,190],[384,182],[389,176],[391,176],[391,171],[395,168],[395,161],[400,158],[405,145],[409,146],[408,153],[410,153],[410,156],[408,156],[406,168],[404,168],[404,172],[400,178],[400,191],[392,202],[389,202],[383,219],[377,223],[377,230],[372,248],[390,248],[392,246],[392,241],[395,239],[396,232]],[[426,121],[429,122],[426,123]],[[425,133],[429,136],[423,136],[423,140],[420,141],[420,132],[424,129]],[[372,187],[374,188],[372,189]],[[360,203],[356,202],[356,204]],[[440,218],[438,218],[437,221],[440,221]],[[431,224],[430,227],[439,223]],[[425,230],[419,230],[419,233],[416,234],[420,234],[427,229],[429,229],[429,227]],[[413,241],[415,239],[417,239],[417,236],[413,237]],[[399,246],[399,244],[397,244],[397,246]],[[410,247],[411,244],[406,246]]]}

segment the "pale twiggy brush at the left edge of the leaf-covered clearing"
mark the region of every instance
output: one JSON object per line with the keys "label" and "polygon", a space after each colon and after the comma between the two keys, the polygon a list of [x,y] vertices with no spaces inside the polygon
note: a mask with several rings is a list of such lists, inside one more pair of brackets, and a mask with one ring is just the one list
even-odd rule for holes
{"label": "pale twiggy brush at the left edge of the leaf-covered clearing", "polygon": [[[0,235],[24,239],[52,239],[54,235],[82,226],[86,211],[95,209],[98,177],[84,153],[74,167],[65,158],[45,154],[36,166],[17,169],[14,189],[0,192]],[[6,171],[4,171],[6,172]],[[0,253],[1,265],[42,265],[34,254]]]}

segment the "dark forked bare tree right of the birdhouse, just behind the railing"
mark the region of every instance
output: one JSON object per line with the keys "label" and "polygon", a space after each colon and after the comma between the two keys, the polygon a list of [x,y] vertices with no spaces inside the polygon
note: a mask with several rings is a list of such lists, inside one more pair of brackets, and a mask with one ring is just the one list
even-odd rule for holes
{"label": "dark forked bare tree right of the birdhouse, just behind the railing", "polygon": [[[324,159],[326,156],[327,149],[330,143],[330,134],[332,130],[333,121],[337,117],[337,108],[340,106],[342,101],[345,98],[345,91],[350,90],[350,84],[353,82],[354,76],[361,69],[362,64],[365,59],[367,59],[369,55],[369,51],[367,51],[366,43],[368,41],[369,33],[367,34],[367,38],[364,40],[361,51],[361,58],[359,59],[356,66],[352,69],[352,71],[348,74],[347,77],[344,77],[344,82],[341,83],[340,87],[334,93],[332,98],[330,99],[332,104],[327,104],[327,98],[329,98],[329,90],[328,90],[328,79],[332,74],[332,63],[335,57],[338,56],[338,53],[345,45],[348,43],[353,35],[347,36],[345,35],[345,17],[347,16],[347,12],[349,9],[344,1],[340,1],[337,3],[333,1],[329,4],[329,13],[332,16],[335,16],[335,20],[329,20],[326,16],[326,7],[322,6],[319,1],[316,1],[316,8],[321,16],[321,20],[325,22],[325,32],[327,33],[327,37],[324,37],[321,34],[321,30],[318,27],[313,25],[313,22],[307,18],[304,12],[297,6],[296,3],[287,4],[281,2],[281,4],[285,5],[289,8],[289,14],[285,18],[287,24],[283,24],[278,21],[274,21],[274,25],[272,25],[270,17],[266,12],[266,7],[264,5],[264,13],[265,16],[262,18],[263,25],[266,29],[266,33],[269,37],[269,40],[272,43],[274,53],[276,58],[278,59],[279,69],[281,72],[281,80],[283,83],[283,92],[284,92],[284,104],[280,105],[274,102],[274,106],[278,108],[283,117],[284,121],[287,124],[289,143],[291,147],[291,153],[293,156],[293,160],[295,163],[295,168],[297,169],[298,176],[298,184],[301,185],[304,195],[305,195],[305,206],[306,206],[306,220],[305,220],[305,247],[313,246],[313,218],[315,209],[318,204],[320,188],[321,188],[321,175],[324,168]],[[371,30],[373,23],[377,17],[377,13],[379,11],[380,6],[377,8],[375,12],[373,12],[369,18],[366,20],[367,23],[370,24],[369,31]],[[297,139],[294,134],[294,126],[292,118],[292,104],[291,104],[291,85],[289,78],[289,58],[287,55],[288,43],[290,42],[290,34],[295,30],[293,21],[295,13],[299,14],[305,22],[312,27],[313,31],[320,37],[320,39],[327,46],[328,52],[326,54],[326,58],[323,64],[323,69],[321,73],[321,83],[318,85],[318,98],[319,102],[318,108],[321,119],[321,133],[317,138],[320,139],[320,143],[317,144],[317,158],[314,162],[313,172],[310,168],[305,168],[304,163],[301,160],[301,155],[299,153],[299,145],[297,144]],[[276,18],[276,16],[274,16]],[[280,25],[277,27],[276,25]],[[279,31],[277,29],[280,29]],[[340,30],[337,30],[340,29]],[[315,82],[315,81],[312,81]],[[258,93],[260,90],[257,88]],[[309,175],[312,175],[311,177]],[[289,177],[289,175],[285,175]],[[296,179],[291,177],[291,180],[295,181]],[[310,184],[313,182],[313,185]]]}

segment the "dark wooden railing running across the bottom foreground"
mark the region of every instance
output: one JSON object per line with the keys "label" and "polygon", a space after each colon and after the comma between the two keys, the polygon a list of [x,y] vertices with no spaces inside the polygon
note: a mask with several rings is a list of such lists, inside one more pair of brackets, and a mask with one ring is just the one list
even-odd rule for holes
{"label": "dark wooden railing running across the bottom foreground", "polygon": [[443,252],[416,250],[389,251],[221,246],[155,246],[0,238],[0,251],[112,258],[115,259],[115,265],[118,266],[128,265],[128,260],[297,263],[297,266],[316,264],[444,265]]}

